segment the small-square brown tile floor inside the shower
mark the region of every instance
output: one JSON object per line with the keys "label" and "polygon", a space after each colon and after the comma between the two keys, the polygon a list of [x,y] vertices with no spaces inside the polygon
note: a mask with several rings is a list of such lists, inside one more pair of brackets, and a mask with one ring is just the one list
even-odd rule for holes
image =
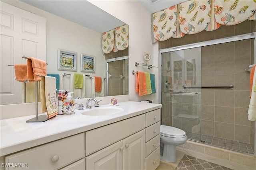
{"label": "small-square brown tile floor inside the shower", "polygon": [[201,139],[200,139],[200,134],[192,133],[192,132],[186,132],[186,135],[190,140],[204,141],[209,145],[226,148],[226,149],[230,149],[238,152],[254,154],[254,151],[252,150],[252,146],[250,145],[250,143],[232,141],[230,139],[213,137],[209,135],[201,135]]}

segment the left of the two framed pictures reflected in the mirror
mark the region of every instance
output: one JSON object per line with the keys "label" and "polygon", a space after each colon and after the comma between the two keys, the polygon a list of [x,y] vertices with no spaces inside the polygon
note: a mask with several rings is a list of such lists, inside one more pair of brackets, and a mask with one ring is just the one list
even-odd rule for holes
{"label": "left of the two framed pictures reflected in the mirror", "polygon": [[58,70],[76,71],[76,52],[58,49]]}

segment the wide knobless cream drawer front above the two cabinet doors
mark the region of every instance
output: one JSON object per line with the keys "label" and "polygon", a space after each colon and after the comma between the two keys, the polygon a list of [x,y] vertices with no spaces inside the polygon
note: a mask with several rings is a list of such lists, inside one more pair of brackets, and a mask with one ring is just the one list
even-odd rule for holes
{"label": "wide knobless cream drawer front above the two cabinet doors", "polygon": [[86,131],[86,156],[145,129],[145,114]]}

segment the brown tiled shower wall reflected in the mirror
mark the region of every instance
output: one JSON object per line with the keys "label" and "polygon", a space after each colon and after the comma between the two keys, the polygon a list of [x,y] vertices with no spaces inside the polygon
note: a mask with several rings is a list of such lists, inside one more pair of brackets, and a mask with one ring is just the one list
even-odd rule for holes
{"label": "brown tiled shower wall reflected in the mirror", "polygon": [[[122,51],[118,51],[114,53],[111,51],[108,54],[105,54],[106,59],[113,59],[116,57],[123,57],[128,55],[128,48]],[[111,78],[108,78],[108,96],[115,96],[115,95],[123,95],[126,94],[128,89],[124,89],[124,81],[128,81],[128,76],[125,76],[124,79],[120,78],[120,74],[124,75],[125,67],[124,60],[121,61],[113,61],[108,63],[108,74],[111,74]],[[127,93],[128,94],[128,93]]]}

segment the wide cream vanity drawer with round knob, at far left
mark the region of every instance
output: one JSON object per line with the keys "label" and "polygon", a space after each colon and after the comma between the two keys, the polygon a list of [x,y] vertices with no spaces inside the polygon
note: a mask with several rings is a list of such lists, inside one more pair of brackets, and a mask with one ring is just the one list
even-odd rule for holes
{"label": "wide cream vanity drawer with round knob, at far left", "polygon": [[[5,163],[23,164],[26,170],[58,169],[84,157],[84,133],[6,156]],[[6,167],[6,170],[17,167]]]}

